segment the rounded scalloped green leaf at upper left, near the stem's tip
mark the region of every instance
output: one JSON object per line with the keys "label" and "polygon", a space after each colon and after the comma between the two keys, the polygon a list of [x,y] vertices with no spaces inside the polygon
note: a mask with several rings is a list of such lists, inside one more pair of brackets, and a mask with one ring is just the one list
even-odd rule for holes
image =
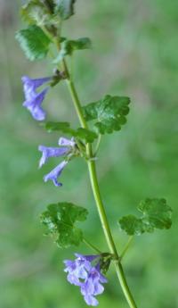
{"label": "rounded scalloped green leaf at upper left, near the stem's tip", "polygon": [[27,29],[21,29],[16,38],[31,61],[43,59],[48,53],[50,39],[46,37],[42,29],[35,25],[29,26]]}

